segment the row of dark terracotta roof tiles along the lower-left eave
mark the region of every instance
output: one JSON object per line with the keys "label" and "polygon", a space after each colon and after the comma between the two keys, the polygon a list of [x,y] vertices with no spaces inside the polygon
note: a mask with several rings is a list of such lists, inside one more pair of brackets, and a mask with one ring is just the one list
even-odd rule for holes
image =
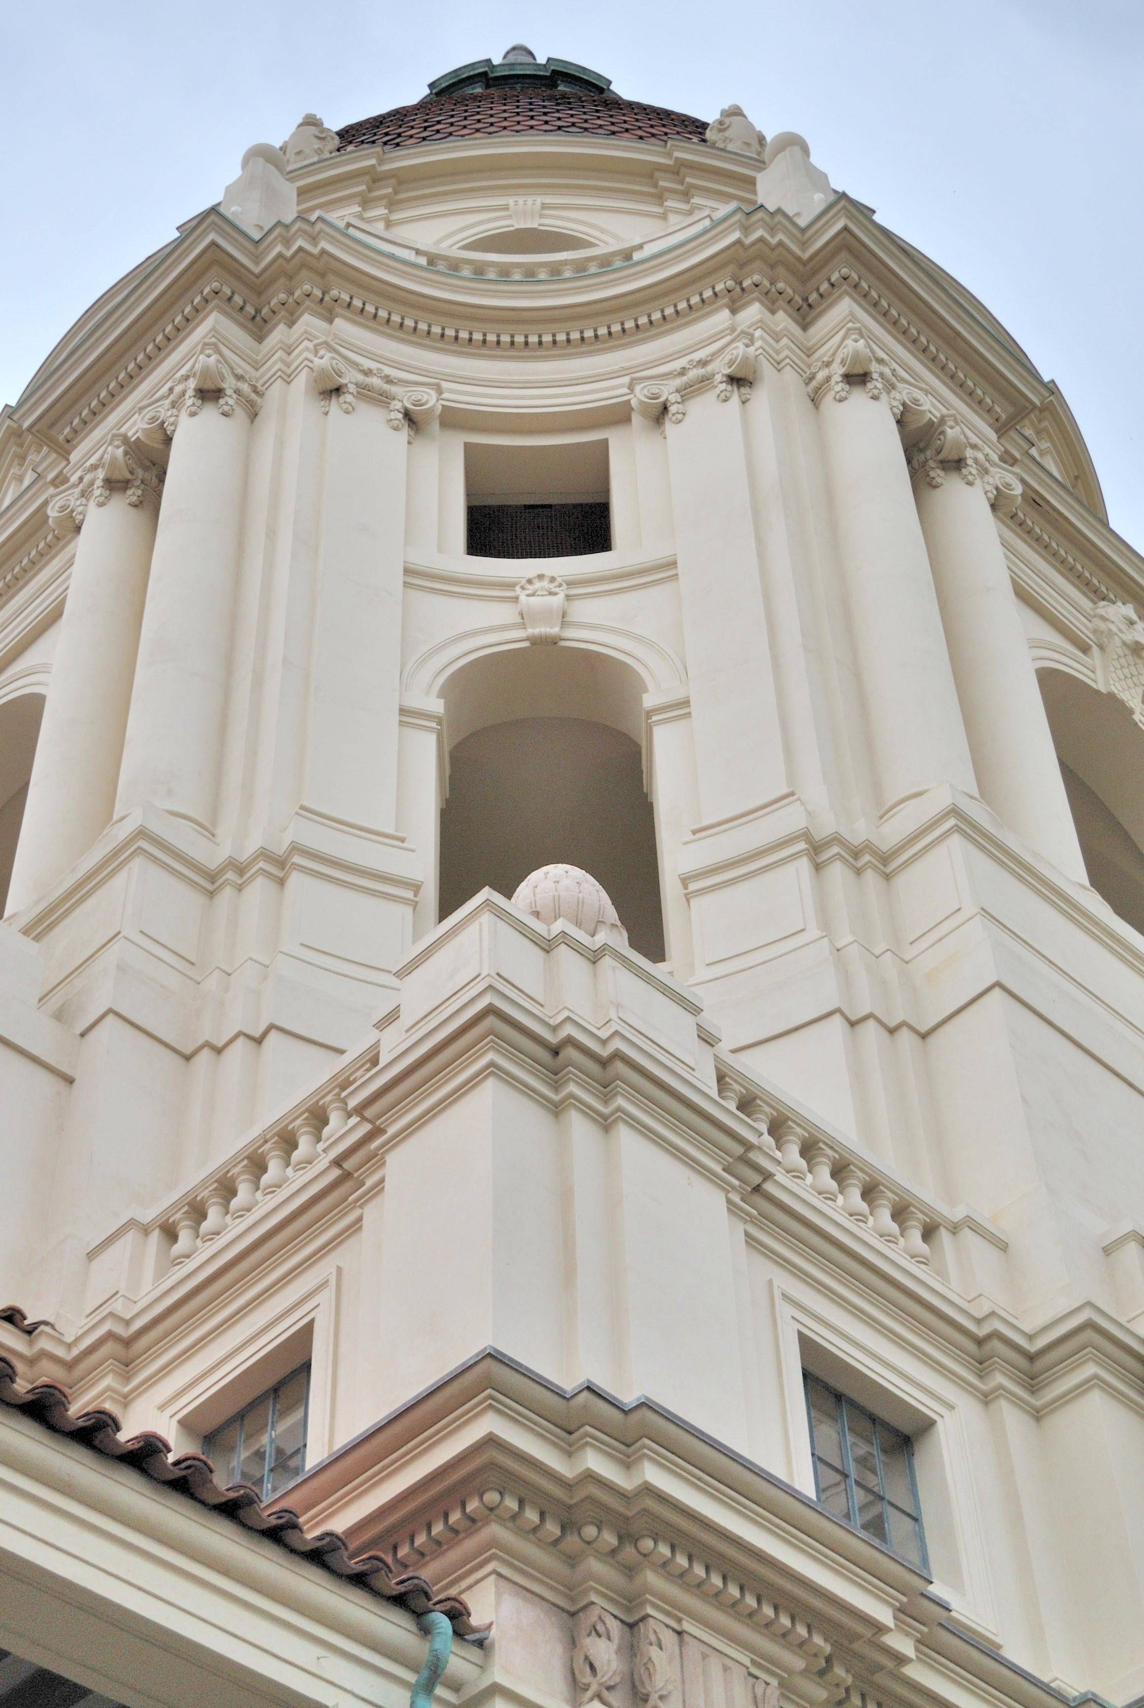
{"label": "row of dark terracotta roof tiles along the lower-left eave", "polygon": [[[22,1315],[17,1307],[7,1308]],[[79,1442],[82,1447],[103,1454],[104,1459],[116,1459],[120,1464],[142,1471],[152,1483],[162,1483],[176,1494],[185,1494],[188,1500],[198,1501],[200,1506],[221,1512],[224,1518],[268,1537],[279,1547],[287,1547],[303,1559],[311,1559],[339,1578],[359,1583],[383,1600],[397,1602],[412,1614],[422,1614],[429,1609],[443,1612],[458,1636],[477,1641],[487,1636],[489,1626],[474,1626],[469,1604],[458,1595],[434,1597],[431,1583],[416,1573],[393,1576],[388,1559],[383,1559],[381,1554],[363,1554],[359,1559],[352,1559],[345,1537],[337,1530],[306,1535],[296,1512],[291,1512],[289,1506],[267,1512],[255,1491],[243,1483],[219,1488],[214,1481],[214,1465],[202,1454],[173,1457],[171,1443],[161,1435],[133,1435],[123,1440],[120,1419],[111,1411],[86,1411],[74,1418],[68,1411],[65,1389],[56,1387],[55,1382],[17,1387],[15,1365],[2,1356],[0,1404],[34,1418],[53,1435]]]}

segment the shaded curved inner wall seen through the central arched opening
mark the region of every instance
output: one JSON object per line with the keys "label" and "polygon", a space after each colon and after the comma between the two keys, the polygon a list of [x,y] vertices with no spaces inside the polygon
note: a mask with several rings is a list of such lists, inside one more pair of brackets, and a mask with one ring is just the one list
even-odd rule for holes
{"label": "shaded curved inner wall seen through the central arched opening", "polygon": [[583,717],[522,717],[458,741],[441,811],[441,919],[486,885],[511,897],[530,871],[556,861],[590,871],[631,946],[663,960],[655,820],[638,743]]}

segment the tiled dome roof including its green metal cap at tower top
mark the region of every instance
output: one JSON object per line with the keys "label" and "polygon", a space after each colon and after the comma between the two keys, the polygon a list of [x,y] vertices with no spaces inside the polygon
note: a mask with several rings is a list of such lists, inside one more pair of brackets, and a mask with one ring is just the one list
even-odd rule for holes
{"label": "tiled dome roof including its green metal cap at tower top", "polygon": [[339,152],[344,152],[378,143],[383,149],[416,149],[428,142],[540,132],[629,137],[636,142],[667,142],[670,137],[703,142],[706,123],[689,113],[624,101],[599,72],[564,60],[545,60],[542,65],[481,60],[438,77],[429,94],[412,106],[357,120],[337,135]]}

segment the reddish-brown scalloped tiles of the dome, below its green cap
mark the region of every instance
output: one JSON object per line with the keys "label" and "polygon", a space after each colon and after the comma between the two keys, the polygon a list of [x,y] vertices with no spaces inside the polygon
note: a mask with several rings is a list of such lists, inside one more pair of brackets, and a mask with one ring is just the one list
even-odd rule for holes
{"label": "reddish-brown scalloped tiles of the dome, below its green cap", "polygon": [[414,149],[428,142],[458,142],[465,137],[522,137],[559,133],[566,137],[631,137],[636,142],[667,142],[682,137],[703,142],[706,123],[687,113],[624,101],[621,96],[588,89],[516,87],[477,89],[463,94],[428,96],[407,108],[363,118],[339,130],[339,150]]}

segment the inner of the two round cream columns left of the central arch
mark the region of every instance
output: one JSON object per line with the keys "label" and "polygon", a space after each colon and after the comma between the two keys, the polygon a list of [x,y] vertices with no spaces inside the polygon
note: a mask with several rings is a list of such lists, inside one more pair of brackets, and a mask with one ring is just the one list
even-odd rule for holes
{"label": "inner of the two round cream columns left of the central arch", "polygon": [[169,437],[173,444],[116,816],[152,803],[214,828],[246,446],[260,405],[251,376],[207,343],[140,422],[144,441]]}

